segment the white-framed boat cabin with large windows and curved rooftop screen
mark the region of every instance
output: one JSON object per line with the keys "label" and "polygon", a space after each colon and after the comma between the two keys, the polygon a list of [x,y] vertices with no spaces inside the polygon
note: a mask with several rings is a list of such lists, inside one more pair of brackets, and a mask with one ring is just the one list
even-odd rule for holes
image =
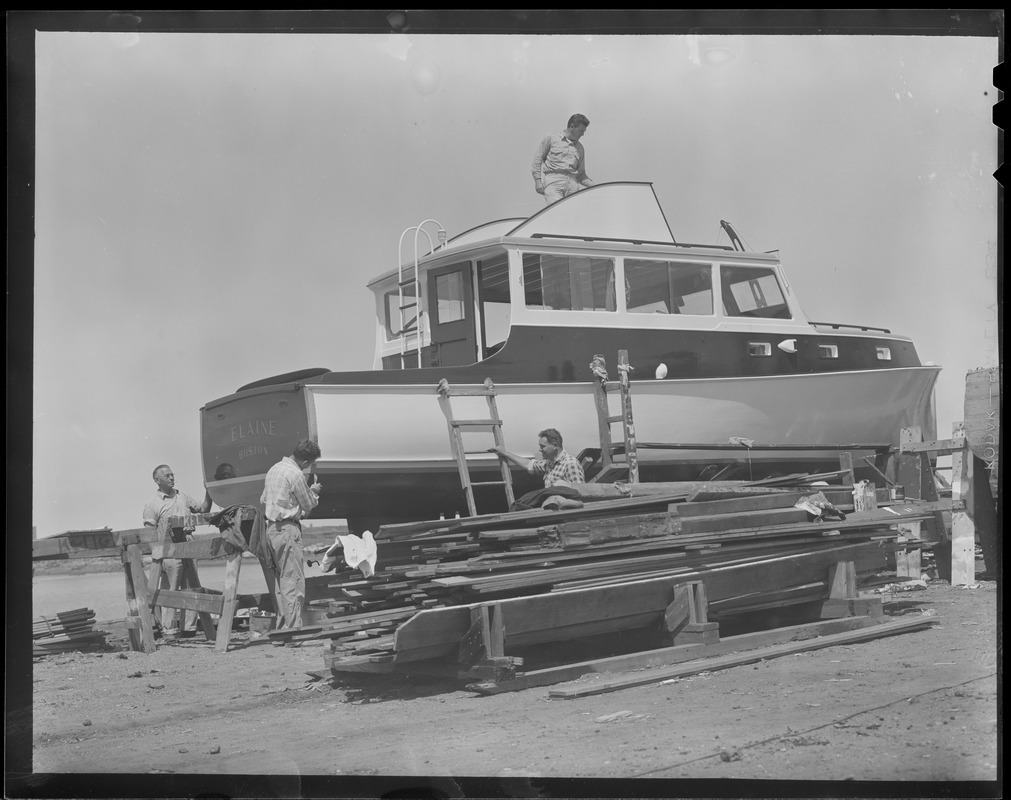
{"label": "white-framed boat cabin with large windows and curved rooftop screen", "polygon": [[648,183],[600,184],[448,241],[427,224],[401,236],[427,254],[369,284],[375,369],[483,361],[519,328],[811,333],[775,255],[676,242]]}

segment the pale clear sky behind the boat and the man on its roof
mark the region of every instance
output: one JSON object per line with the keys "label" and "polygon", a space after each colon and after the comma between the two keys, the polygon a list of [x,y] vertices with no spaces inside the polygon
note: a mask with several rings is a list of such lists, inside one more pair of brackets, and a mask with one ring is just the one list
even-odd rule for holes
{"label": "pale clear sky behind the boat and the man on its roof", "polygon": [[[998,363],[998,40],[963,35],[35,34],[32,523],[134,528],[199,410],[372,365],[366,283],[402,231],[543,207],[574,112],[598,183],[651,181],[675,239],[779,251],[813,320]],[[55,487],[56,488],[55,491]]]}

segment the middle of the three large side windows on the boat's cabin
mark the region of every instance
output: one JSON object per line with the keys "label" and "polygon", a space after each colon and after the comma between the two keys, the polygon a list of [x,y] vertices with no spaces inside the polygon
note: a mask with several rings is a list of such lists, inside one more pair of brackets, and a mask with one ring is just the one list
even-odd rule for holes
{"label": "middle of the three large side windows on the boat's cabin", "polygon": [[625,259],[625,304],[634,314],[713,314],[709,264]]}

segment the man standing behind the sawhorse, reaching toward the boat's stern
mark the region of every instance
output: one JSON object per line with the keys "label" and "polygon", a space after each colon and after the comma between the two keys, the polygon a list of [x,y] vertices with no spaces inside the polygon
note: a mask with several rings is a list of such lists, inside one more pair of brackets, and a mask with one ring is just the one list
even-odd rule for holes
{"label": "man standing behind the sawhorse, reaching toward the boat's stern", "polygon": [[[151,476],[155,479],[155,483],[158,484],[158,492],[156,492],[155,497],[148,502],[148,505],[144,507],[144,524],[146,527],[159,530],[164,521],[166,527],[164,530],[159,530],[159,533],[168,537],[172,534],[171,530],[167,527],[170,517],[185,517],[187,514],[206,514],[210,511],[210,494],[205,490],[203,502],[197,503],[197,501],[185,492],[181,492],[176,488],[176,476],[172,472],[172,467],[168,464],[160,464],[159,466],[156,466],[155,471],[152,472]],[[192,538],[193,528],[187,528],[183,530],[183,538],[178,541],[186,541],[187,539]],[[162,552],[164,551],[166,544],[168,544],[167,541],[159,539],[159,541],[155,542],[155,544],[151,546],[151,558],[155,562],[155,568],[157,568],[158,564],[161,564],[162,566],[161,588],[171,590],[183,589],[183,562],[179,558],[162,557]],[[195,564],[193,566],[193,574],[195,577]],[[187,586],[186,588],[197,589],[197,587],[190,586]],[[196,612],[187,611],[183,624],[182,635],[192,636],[195,631]],[[173,636],[178,633],[178,610],[174,608],[163,608],[162,635]]]}

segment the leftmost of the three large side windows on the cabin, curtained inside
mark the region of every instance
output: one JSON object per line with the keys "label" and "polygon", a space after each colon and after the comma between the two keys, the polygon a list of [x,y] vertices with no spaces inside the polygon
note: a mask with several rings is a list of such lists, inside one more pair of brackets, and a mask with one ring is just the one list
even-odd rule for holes
{"label": "leftmost of the three large side windows on the cabin, curtained inside", "polygon": [[528,308],[613,312],[615,262],[610,258],[523,254],[523,286]]}

